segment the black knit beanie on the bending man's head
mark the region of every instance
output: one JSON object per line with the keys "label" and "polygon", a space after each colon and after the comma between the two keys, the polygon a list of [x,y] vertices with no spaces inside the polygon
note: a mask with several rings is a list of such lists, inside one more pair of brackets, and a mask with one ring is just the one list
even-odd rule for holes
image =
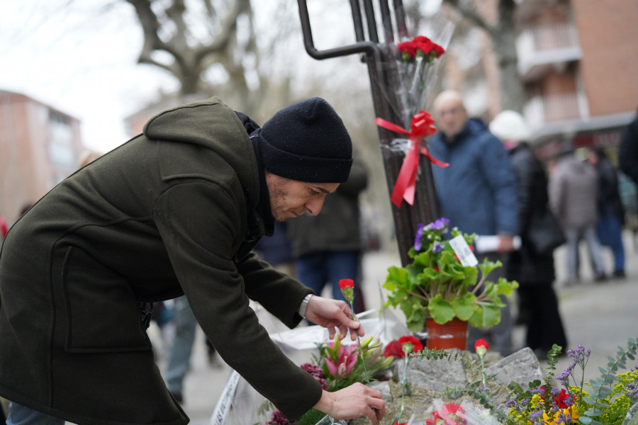
{"label": "black knit beanie on the bending man's head", "polygon": [[343,183],[352,165],[352,141],[335,110],[311,98],[275,113],[259,132],[264,168],[308,183]]}

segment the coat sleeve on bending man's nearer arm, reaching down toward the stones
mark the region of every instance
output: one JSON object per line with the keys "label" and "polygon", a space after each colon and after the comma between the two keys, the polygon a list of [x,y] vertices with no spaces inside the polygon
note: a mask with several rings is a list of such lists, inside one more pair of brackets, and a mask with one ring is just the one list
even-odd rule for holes
{"label": "coat sleeve on bending man's nearer arm, reaching down toward the stones", "polygon": [[[154,208],[169,259],[208,339],[255,390],[296,419],[318,402],[322,389],[281,352],[249,306],[245,281],[233,261],[241,242],[237,235],[243,234],[240,217],[242,208],[230,190],[211,181],[177,183],[157,198]],[[287,294],[289,285],[283,282],[270,288],[276,291],[271,298],[301,296],[294,285],[293,295]]]}

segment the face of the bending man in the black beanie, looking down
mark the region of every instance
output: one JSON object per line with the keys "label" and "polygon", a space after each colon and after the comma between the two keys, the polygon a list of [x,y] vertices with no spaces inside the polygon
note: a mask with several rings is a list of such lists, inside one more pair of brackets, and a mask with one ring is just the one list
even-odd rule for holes
{"label": "face of the bending man in the black beanie, looking down", "polygon": [[265,171],[270,194],[270,209],[277,221],[286,221],[308,211],[318,215],[328,193],[337,190],[339,183],[305,183],[286,179]]}

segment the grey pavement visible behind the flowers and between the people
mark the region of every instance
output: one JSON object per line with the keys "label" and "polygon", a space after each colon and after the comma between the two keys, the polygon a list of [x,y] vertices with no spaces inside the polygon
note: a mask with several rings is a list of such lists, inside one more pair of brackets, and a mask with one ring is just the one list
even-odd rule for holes
{"label": "grey pavement visible behind the flowers and between the people", "polygon": [[[554,254],[557,274],[555,288],[567,333],[566,348],[576,348],[579,344],[591,348],[586,380],[599,377],[598,368],[606,367],[608,357],[615,357],[618,346],[624,348],[627,339],[638,338],[638,252],[634,250],[634,241],[630,239],[630,234],[627,232],[624,236],[627,263],[627,278],[624,280],[594,283],[591,268],[587,266],[588,256],[582,246],[581,283],[566,288],[561,285],[564,278],[564,247],[557,249]],[[396,253],[371,252],[364,256],[363,291],[367,308],[381,306],[381,285],[387,268],[400,263]],[[608,249],[605,249],[605,263],[607,270],[611,271],[612,257]],[[400,310],[398,313],[401,313]],[[524,334],[525,329],[522,327],[515,329],[515,347],[523,346]],[[158,362],[163,370],[165,359],[161,349],[158,354]],[[560,358],[556,365],[556,375],[562,373],[570,363],[571,358]],[[203,333],[199,331],[191,359],[191,370],[184,382],[183,408],[191,418],[191,424],[208,424],[231,372],[228,365],[214,368],[208,364],[206,344]]]}

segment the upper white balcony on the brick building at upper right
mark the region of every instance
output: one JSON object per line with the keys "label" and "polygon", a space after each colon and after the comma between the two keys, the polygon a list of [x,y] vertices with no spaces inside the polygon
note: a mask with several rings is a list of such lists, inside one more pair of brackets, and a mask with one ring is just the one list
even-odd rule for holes
{"label": "upper white balcony on the brick building at upper right", "polygon": [[528,76],[536,67],[580,60],[583,53],[572,23],[543,24],[523,30],[516,40],[518,72]]}

